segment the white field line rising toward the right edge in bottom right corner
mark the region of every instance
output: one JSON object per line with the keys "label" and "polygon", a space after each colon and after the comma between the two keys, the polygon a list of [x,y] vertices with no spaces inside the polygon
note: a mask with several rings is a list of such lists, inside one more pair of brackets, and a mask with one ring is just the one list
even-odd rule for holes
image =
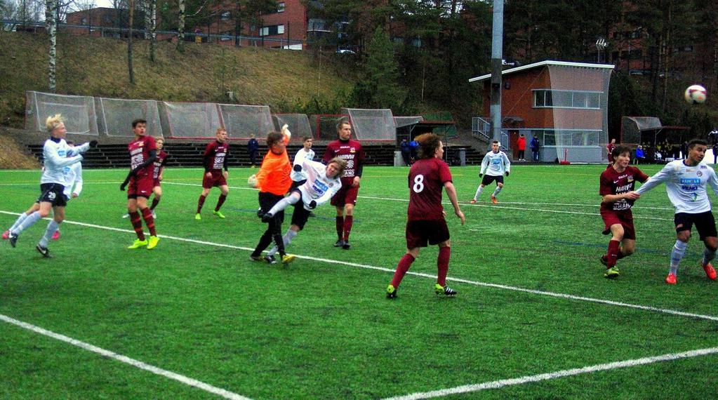
{"label": "white field line rising toward the right edge in bottom right corner", "polygon": [[533,383],[538,381],[548,381],[549,379],[564,378],[565,376],[576,376],[584,373],[594,373],[597,371],[610,371],[617,368],[628,368],[634,366],[645,366],[646,364],[662,363],[665,361],[680,360],[681,358],[700,357],[702,355],[713,355],[718,353],[718,348],[703,348],[699,350],[685,351],[683,353],[670,353],[656,355],[653,357],[635,358],[633,360],[616,361],[615,363],[597,364],[595,366],[587,366],[583,368],[565,369],[563,371],[541,373],[538,375],[522,376],[521,378],[501,379],[500,381],[492,381],[485,383],[476,383],[473,385],[456,386],[449,389],[440,389],[436,391],[425,391],[422,393],[407,394],[405,396],[391,397],[386,400],[417,400],[429,399],[432,397],[449,396],[451,394],[471,393],[486,389],[499,389],[505,386],[523,385],[524,383]]}

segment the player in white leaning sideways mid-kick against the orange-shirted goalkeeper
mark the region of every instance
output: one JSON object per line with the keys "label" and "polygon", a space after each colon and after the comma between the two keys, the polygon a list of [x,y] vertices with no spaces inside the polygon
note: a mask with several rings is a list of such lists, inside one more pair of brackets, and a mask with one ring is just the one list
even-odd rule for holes
{"label": "player in white leaning sideways mid-kick against the orange-shirted goalkeeper", "polygon": [[[289,207],[289,205],[294,205],[292,225],[289,226],[289,229],[282,237],[284,248],[286,248],[289,243],[292,243],[292,239],[294,236],[297,236],[299,231],[304,229],[304,224],[307,223],[309,213],[311,213],[314,208],[327,203],[327,201],[341,189],[341,176],[346,167],[346,160],[340,159],[339,157],[331,159],[326,166],[320,162],[309,161],[308,159],[304,159],[301,165],[294,165],[294,172],[304,172],[307,179],[304,180],[302,185],[295,187],[289,193],[289,196],[279,200],[262,219],[270,220],[276,213]],[[269,263],[274,264],[274,254],[276,254],[277,250],[276,246],[269,250],[267,254]]]}

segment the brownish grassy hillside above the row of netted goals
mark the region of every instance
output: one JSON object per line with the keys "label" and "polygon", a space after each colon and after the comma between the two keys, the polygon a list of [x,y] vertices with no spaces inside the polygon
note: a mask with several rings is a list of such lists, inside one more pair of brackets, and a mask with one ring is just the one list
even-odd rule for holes
{"label": "brownish grassy hillside above the row of netted goals", "polygon": [[[25,90],[47,91],[47,37],[0,32],[0,124],[22,127]],[[135,84],[127,70],[127,45],[117,39],[61,35],[57,41],[57,93],[164,101],[223,101],[289,111],[313,96],[349,93],[353,75],[345,60],[311,52],[187,43],[183,53],[160,42],[149,62],[149,42],[134,43]]]}

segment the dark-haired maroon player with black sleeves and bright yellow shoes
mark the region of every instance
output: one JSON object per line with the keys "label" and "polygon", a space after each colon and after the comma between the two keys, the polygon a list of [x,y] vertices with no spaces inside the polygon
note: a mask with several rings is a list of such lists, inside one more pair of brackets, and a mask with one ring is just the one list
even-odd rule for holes
{"label": "dark-haired maroon player with black sleeves and bright yellow shoes", "polygon": [[[154,186],[154,179],[152,173],[154,172],[154,161],[157,159],[157,144],[154,143],[154,138],[148,136],[147,133],[147,121],[144,119],[136,119],[132,121],[132,132],[134,133],[134,140],[127,145],[127,149],[130,152],[130,172],[122,185],[120,190],[127,188],[127,213],[130,215],[132,227],[134,228],[137,238],[128,248],[140,248],[147,246],[149,250],[157,246],[159,238],[157,237],[157,231],[154,229],[154,218],[152,218],[152,211],[147,207],[147,199],[152,192]],[[139,208],[140,213],[137,212]],[[142,220],[149,229],[149,239],[144,237],[142,231]]]}

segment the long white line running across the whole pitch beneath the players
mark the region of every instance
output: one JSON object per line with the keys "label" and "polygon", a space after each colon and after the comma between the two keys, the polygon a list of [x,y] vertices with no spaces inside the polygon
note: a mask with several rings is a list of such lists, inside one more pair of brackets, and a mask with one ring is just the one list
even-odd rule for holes
{"label": "long white line running across the whole pitch beneath the players", "polygon": [[[7,215],[19,215],[19,214],[17,214],[17,213],[9,213],[9,212],[7,212],[7,211],[2,211],[2,210],[0,210],[0,213],[1,213],[1,214],[7,214]],[[47,218],[45,218],[45,219],[47,219]],[[111,228],[111,227],[103,226],[103,225],[95,225],[95,224],[91,224],[91,223],[75,222],[75,221],[70,221],[70,220],[65,220],[63,223],[69,223],[69,224],[71,224],[71,225],[80,225],[80,226],[85,226],[85,227],[88,227],[88,228],[103,229],[103,230],[106,230],[106,231],[115,231],[115,232],[122,232],[122,233],[134,233],[134,231],[131,231],[131,230],[129,230],[129,229]],[[206,245],[206,246],[215,246],[215,247],[223,247],[223,248],[233,248],[233,249],[236,249],[236,250],[245,250],[245,251],[253,251],[253,250],[254,250],[254,248],[251,248],[251,247],[234,246],[234,245],[225,244],[225,243],[215,243],[215,242],[210,242],[210,241],[199,241],[199,240],[196,240],[196,239],[180,238],[180,237],[177,237],[177,236],[167,236],[167,235],[158,235],[158,236],[159,236],[160,238],[166,238],[166,239],[170,239],[170,240],[173,240],[173,241],[182,241],[182,242],[186,242],[186,243],[197,243],[197,244],[202,244],[202,245]],[[393,272],[394,272],[394,269],[393,269],[393,268],[392,268],[392,269],[389,269],[389,268],[384,268],[383,266],[373,266],[373,265],[368,265],[368,264],[358,264],[358,263],[352,263],[352,262],[348,262],[348,261],[339,261],[339,260],[332,260],[332,259],[323,259],[323,258],[320,258],[320,257],[312,257],[312,256],[302,256],[302,255],[299,255],[299,254],[294,254],[294,255],[297,256],[297,259],[304,259],[304,260],[311,260],[311,261],[319,261],[319,262],[327,263],[327,264],[340,264],[340,265],[345,265],[345,266],[353,266],[353,267],[356,267],[356,268],[371,269],[371,270],[374,270],[374,271],[389,272],[389,273],[391,273],[391,274],[393,274]],[[423,278],[428,278],[428,279],[437,279],[437,276],[436,276],[436,275],[424,274],[424,273],[421,273],[421,272],[408,271],[408,272],[406,272],[406,274],[414,275],[414,276],[421,276],[421,277],[423,277]],[[555,298],[559,298],[559,299],[568,299],[568,300],[575,300],[575,301],[580,301],[580,302],[592,302],[592,303],[597,303],[597,304],[606,304],[606,305],[612,305],[612,306],[616,306],[616,307],[627,307],[627,308],[633,308],[633,309],[636,309],[636,310],[645,310],[645,311],[651,311],[651,312],[661,312],[661,313],[663,313],[663,314],[676,315],[676,316],[681,316],[681,317],[690,317],[690,318],[696,318],[696,319],[699,319],[699,320],[718,321],[718,317],[713,316],[713,315],[694,314],[694,313],[691,313],[691,312],[682,312],[682,311],[677,311],[677,310],[668,310],[668,309],[663,309],[663,308],[658,308],[658,307],[645,306],[645,305],[641,305],[641,304],[630,304],[630,303],[624,303],[624,302],[615,302],[615,301],[612,301],[612,300],[595,299],[595,298],[593,298],[593,297],[574,296],[573,294],[556,293],[556,292],[545,292],[545,291],[542,291],[542,290],[526,289],[526,288],[523,288],[523,287],[513,287],[513,286],[508,286],[508,285],[503,285],[503,284],[490,284],[490,283],[486,283],[486,282],[470,281],[469,279],[462,279],[462,278],[447,277],[447,280],[448,280],[448,281],[451,281],[451,282],[460,282],[460,283],[464,283],[464,284],[470,284],[470,285],[474,285],[474,286],[477,286],[477,287],[491,287],[491,288],[494,288],[494,289],[512,290],[512,291],[514,291],[514,292],[523,292],[523,293],[528,293],[528,294],[538,294],[538,295],[541,295],[541,296],[555,297]]]}

